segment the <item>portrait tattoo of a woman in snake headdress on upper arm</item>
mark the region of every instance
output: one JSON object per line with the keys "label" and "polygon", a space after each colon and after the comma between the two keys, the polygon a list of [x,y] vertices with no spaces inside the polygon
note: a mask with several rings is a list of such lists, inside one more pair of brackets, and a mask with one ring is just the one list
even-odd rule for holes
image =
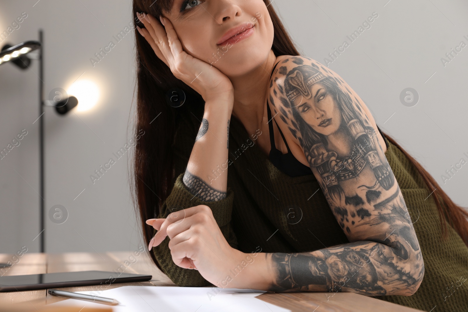
{"label": "portrait tattoo of a woman in snake headdress on upper arm", "polygon": [[[301,138],[307,161],[317,168],[330,198],[343,199],[342,181],[356,178],[366,164],[376,179],[374,185],[366,186],[373,190],[369,196],[375,196],[371,194],[379,192],[379,187],[388,190],[394,185],[390,166],[380,159],[371,139],[375,138],[373,127],[364,124],[335,78],[326,77],[314,63],[299,65],[287,73],[285,93],[300,133],[307,134]],[[326,117],[318,124],[317,114]]]}

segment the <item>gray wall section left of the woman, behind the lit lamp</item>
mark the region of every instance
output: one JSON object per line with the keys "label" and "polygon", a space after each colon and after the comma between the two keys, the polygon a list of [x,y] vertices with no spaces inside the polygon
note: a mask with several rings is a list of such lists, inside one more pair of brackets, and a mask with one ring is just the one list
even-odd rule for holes
{"label": "gray wall section left of the woman, behind the lit lamp", "polygon": [[[2,30],[22,12],[28,14],[2,46],[37,40],[42,28],[45,96],[53,88],[66,89],[81,74],[80,79],[93,80],[101,91],[100,101],[89,112],[58,116],[47,107],[41,117],[46,124],[45,210],[59,204],[69,213],[63,224],[46,216],[41,234],[46,251],[136,250],[142,239],[129,191],[127,154],[132,150],[119,160],[112,154],[132,138],[134,37],[129,33],[119,43],[113,38],[131,22],[131,1],[36,2],[0,2]],[[116,46],[93,66],[90,58],[110,41]],[[38,251],[39,238],[33,241],[42,230],[36,193],[38,122],[32,124],[38,117],[38,69],[37,62],[24,72],[11,64],[0,65],[0,146],[22,129],[28,131],[0,160],[0,252],[16,252],[22,246]],[[93,184],[89,176],[110,158],[116,164]]]}

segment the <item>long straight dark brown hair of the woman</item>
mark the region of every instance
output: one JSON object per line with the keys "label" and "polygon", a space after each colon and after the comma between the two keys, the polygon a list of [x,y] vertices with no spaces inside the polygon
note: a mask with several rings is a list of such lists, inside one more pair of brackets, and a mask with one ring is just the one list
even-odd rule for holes
{"label": "long straight dark brown hair of the woman", "polygon": [[[270,5],[270,0],[263,1],[273,22],[274,39],[271,49],[274,54],[276,56],[300,55],[273,6]],[[168,13],[171,5],[172,0],[133,0],[133,16],[136,16],[136,12],[145,12],[158,18],[162,11]],[[141,23],[138,25],[143,27]],[[172,145],[178,120],[180,119],[179,116],[189,113],[188,109],[203,109],[204,101],[200,94],[174,77],[168,66],[156,56],[151,46],[146,42],[145,38],[139,35],[136,28],[135,38],[137,47],[135,134],[141,130],[145,131],[145,134],[139,138],[138,144],[135,146],[133,173],[131,173],[134,184],[131,188],[132,200],[140,216],[143,236],[146,244],[148,244],[153,237],[154,229],[146,225],[145,221],[158,216],[161,206],[170,194],[174,183]],[[187,104],[178,108],[173,108],[167,104],[167,93],[174,87],[183,90]],[[468,246],[468,221],[465,218],[468,217],[468,213],[453,203],[431,175],[405,152],[393,138],[388,137],[386,134],[385,136],[408,157],[423,176],[428,188],[430,190],[436,189],[432,196],[437,203],[444,235],[446,235],[445,220],[448,220]],[[445,208],[439,197],[443,199]],[[159,267],[154,254],[150,253],[150,255]]]}

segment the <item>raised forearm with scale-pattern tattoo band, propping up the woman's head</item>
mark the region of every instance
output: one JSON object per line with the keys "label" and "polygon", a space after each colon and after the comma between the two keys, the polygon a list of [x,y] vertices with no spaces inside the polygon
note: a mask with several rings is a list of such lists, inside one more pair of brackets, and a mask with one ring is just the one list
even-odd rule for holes
{"label": "raised forearm with scale-pattern tattoo band, propping up the woman's head", "polygon": [[205,102],[205,114],[183,176],[190,193],[204,201],[227,196],[231,101],[230,97],[220,97]]}

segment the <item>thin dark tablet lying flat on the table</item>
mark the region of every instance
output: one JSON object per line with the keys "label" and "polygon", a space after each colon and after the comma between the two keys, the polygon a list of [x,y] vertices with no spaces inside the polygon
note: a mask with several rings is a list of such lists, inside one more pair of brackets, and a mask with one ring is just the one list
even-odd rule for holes
{"label": "thin dark tablet lying flat on the table", "polygon": [[153,276],[105,271],[0,276],[0,292],[149,281]]}

